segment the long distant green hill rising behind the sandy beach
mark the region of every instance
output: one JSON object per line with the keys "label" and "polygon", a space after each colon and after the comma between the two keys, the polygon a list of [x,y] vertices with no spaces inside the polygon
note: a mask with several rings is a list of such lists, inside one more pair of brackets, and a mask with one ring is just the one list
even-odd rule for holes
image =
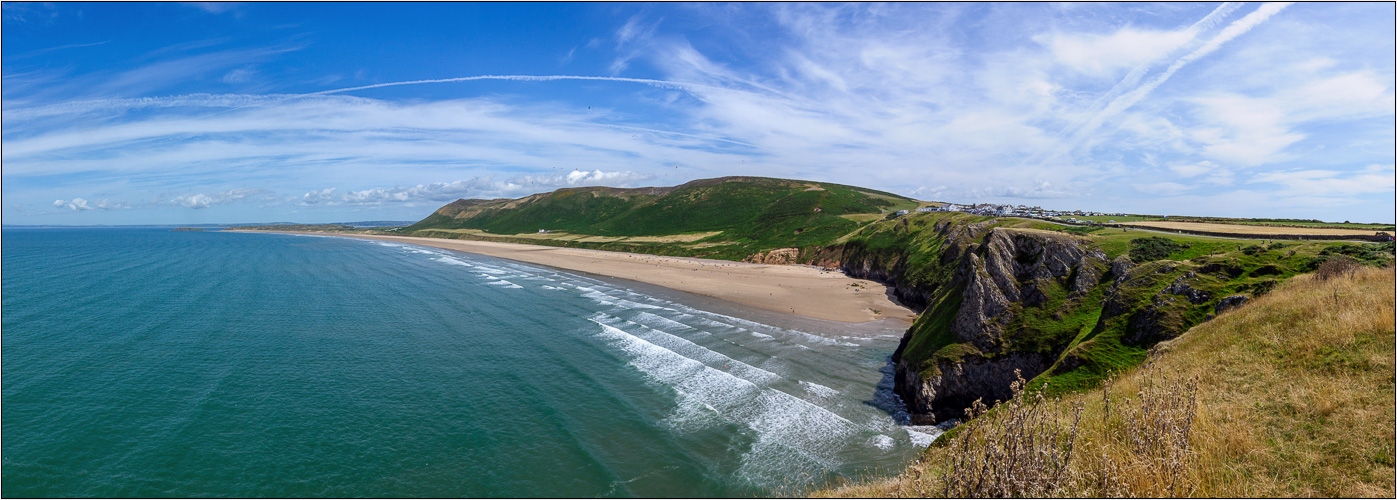
{"label": "long distant green hill rising behind the sandy beach", "polygon": [[[856,230],[861,216],[879,219],[914,207],[914,200],[851,186],[722,177],[676,187],[583,187],[520,200],[458,200],[398,233],[469,237],[460,229],[475,229],[482,237],[524,237],[545,229],[555,236],[529,243],[740,260],[778,247],[828,244]],[[668,244],[576,237],[694,233],[710,235]]]}

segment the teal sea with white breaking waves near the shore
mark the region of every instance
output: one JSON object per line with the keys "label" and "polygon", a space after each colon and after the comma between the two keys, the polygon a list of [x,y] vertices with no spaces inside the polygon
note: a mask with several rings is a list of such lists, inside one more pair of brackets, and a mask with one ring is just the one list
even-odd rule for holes
{"label": "teal sea with white breaking waves near the shore", "polygon": [[341,237],[3,232],[10,497],[694,497],[891,473],[900,331]]}

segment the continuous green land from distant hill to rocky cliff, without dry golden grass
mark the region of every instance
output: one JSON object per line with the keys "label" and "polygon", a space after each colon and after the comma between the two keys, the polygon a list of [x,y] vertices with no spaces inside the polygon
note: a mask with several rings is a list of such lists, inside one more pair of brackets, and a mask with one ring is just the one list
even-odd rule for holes
{"label": "continuous green land from distant hill to rocky cliff, without dry golden grass", "polygon": [[[460,200],[391,233],[795,263],[893,288],[921,311],[893,353],[914,422],[1011,395],[1099,387],[1161,342],[1324,263],[1391,265],[1393,243],[1280,242],[964,212],[852,186],[766,177]],[[546,232],[541,232],[546,230]]]}

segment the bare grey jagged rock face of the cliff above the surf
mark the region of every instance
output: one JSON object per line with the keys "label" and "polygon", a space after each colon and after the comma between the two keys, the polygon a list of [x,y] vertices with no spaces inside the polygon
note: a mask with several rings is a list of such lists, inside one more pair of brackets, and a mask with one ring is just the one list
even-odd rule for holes
{"label": "bare grey jagged rock face of the cliff above the surf", "polygon": [[1055,353],[1017,349],[1006,328],[1053,291],[1066,291],[1069,302],[1087,293],[1109,268],[1104,253],[1060,233],[965,225],[947,236],[943,260],[958,261],[951,285],[961,289],[947,330],[963,348],[950,358],[905,356],[909,330],[894,353],[897,392],[921,422],[961,418],[978,398],[1009,398],[1014,370],[1024,378],[1046,370]]}

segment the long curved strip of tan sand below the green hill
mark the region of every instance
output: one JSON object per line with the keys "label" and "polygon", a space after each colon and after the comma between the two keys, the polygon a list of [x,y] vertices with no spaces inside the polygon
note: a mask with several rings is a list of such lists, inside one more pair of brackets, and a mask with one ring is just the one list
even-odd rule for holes
{"label": "long curved strip of tan sand below the green hill", "polygon": [[602,277],[633,279],[770,311],[819,320],[911,324],[915,314],[887,296],[887,288],[809,265],[767,265],[722,260],[411,236],[335,235],[457,250]]}

